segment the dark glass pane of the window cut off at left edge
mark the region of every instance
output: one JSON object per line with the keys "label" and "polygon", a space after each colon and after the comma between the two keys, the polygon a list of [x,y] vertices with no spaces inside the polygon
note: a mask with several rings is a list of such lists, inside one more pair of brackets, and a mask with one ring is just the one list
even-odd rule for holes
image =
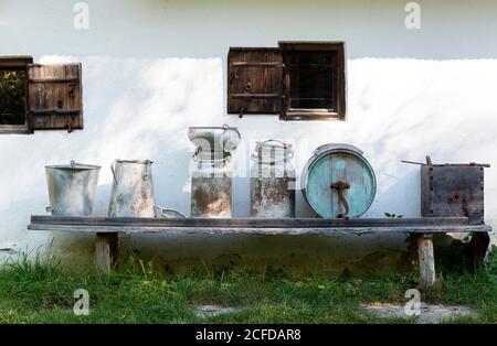
{"label": "dark glass pane of the window cut off at left edge", "polygon": [[25,72],[0,71],[0,125],[25,123]]}

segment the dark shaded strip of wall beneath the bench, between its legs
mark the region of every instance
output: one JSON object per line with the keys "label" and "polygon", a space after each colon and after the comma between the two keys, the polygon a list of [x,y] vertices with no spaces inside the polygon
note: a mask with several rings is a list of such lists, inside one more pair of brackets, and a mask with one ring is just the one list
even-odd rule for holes
{"label": "dark shaded strip of wall beneath the bench, between its legs", "polygon": [[251,268],[284,273],[318,272],[330,277],[410,269],[403,236],[173,236],[120,238],[121,256],[154,260],[159,270],[181,274]]}

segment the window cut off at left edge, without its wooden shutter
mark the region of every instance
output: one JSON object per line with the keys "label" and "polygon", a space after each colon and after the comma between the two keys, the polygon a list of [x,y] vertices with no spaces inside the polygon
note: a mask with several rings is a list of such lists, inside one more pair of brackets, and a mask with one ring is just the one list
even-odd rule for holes
{"label": "window cut off at left edge, without its wooden shutter", "polygon": [[0,133],[27,133],[30,56],[0,58]]}

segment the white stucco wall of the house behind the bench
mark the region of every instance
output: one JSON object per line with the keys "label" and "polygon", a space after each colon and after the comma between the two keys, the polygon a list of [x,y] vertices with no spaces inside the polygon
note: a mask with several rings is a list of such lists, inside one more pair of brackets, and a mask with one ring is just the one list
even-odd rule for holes
{"label": "white stucco wall of the house behind the bench", "polygon": [[[255,140],[297,147],[297,173],[324,143],[359,147],[378,193],[364,216],[420,215],[419,166],[402,159],[488,162],[497,167],[497,2],[417,1],[421,29],[406,30],[408,1],[89,0],[89,30],[75,30],[67,0],[0,0],[2,55],[82,62],[85,129],[67,134],[0,136],[0,258],[46,247],[64,259],[91,259],[89,237],[27,231],[47,205],[45,164],[101,164],[95,215],[106,215],[116,159],[155,161],[160,205],[189,213],[189,126],[237,126],[234,216],[248,215],[247,158]],[[276,46],[279,40],[347,42],[348,121],[284,122],[277,116],[226,115],[230,46]],[[252,144],[251,144],[252,143]],[[497,226],[497,171],[486,171],[486,219]],[[297,214],[309,215],[299,193]],[[129,239],[128,239],[129,240]],[[401,249],[402,237],[138,237],[127,242],[171,266],[311,263],[334,271],[364,256]],[[346,256],[347,255],[347,256]],[[381,255],[382,256],[382,255]],[[380,257],[381,257],[380,256]],[[346,259],[343,259],[346,258]],[[381,257],[382,258],[382,257]],[[276,266],[276,264],[275,264]]]}

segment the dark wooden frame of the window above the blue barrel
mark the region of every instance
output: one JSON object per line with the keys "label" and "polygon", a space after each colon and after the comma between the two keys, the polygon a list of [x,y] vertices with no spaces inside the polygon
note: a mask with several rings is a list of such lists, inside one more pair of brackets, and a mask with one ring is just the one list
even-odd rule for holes
{"label": "dark wooden frame of the window above the blue barrel", "polygon": [[[284,62],[284,101],[279,118],[282,120],[347,120],[347,66],[346,66],[346,43],[343,41],[279,41],[279,48]],[[334,52],[337,65],[334,67],[332,77],[336,83],[336,90],[332,97],[336,98],[336,111],[320,111],[305,108],[290,108],[290,71],[289,58],[292,54],[303,52]]]}

